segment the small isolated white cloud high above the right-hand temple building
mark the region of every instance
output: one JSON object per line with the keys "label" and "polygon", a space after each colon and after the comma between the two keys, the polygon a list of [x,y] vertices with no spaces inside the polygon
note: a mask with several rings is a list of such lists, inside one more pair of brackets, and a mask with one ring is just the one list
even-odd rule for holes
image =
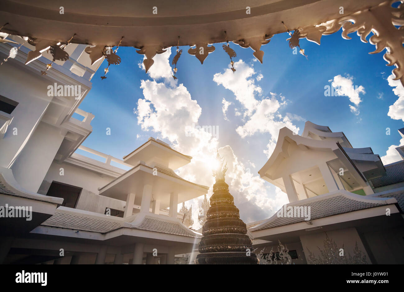
{"label": "small isolated white cloud high above the right-hand temple building", "polygon": [[354,104],[349,105],[351,112],[359,115],[358,106],[362,102],[359,94],[366,94],[365,88],[362,85],[353,86],[353,77],[349,75],[347,77],[341,75],[334,76],[331,85],[335,88],[335,95],[348,96],[349,101]]}

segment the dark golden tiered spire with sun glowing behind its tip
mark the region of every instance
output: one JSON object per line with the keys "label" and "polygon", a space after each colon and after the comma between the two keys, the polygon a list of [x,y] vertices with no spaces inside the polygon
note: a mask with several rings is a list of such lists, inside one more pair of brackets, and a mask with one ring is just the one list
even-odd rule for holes
{"label": "dark golden tiered spire with sun glowing behind its tip", "polygon": [[199,242],[196,264],[258,264],[257,256],[252,253],[252,242],[247,234],[246,224],[234,205],[229,185],[225,183],[227,164],[217,159],[220,167],[213,171],[216,183],[210,197],[210,208],[203,225],[203,237]]}

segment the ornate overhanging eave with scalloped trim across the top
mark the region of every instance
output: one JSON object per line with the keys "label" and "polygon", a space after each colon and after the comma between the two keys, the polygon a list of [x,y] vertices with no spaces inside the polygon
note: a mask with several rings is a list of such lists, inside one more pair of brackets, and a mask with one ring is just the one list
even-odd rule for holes
{"label": "ornate overhanging eave with scalloped trim across the top", "polygon": [[[231,6],[214,0],[192,6],[156,2],[156,6],[150,7],[147,3],[134,5],[130,0],[122,0],[113,6],[100,0],[95,7],[92,1],[73,0],[69,7],[63,8],[62,15],[54,5],[5,0],[0,7],[0,19],[7,23],[2,32],[36,39],[34,42],[40,48],[34,52],[55,42],[65,43],[73,35],[70,38],[73,43],[139,48],[138,52],[147,57],[143,62],[146,69],[153,64],[153,56],[164,52],[164,48],[198,45],[213,52],[214,48],[207,44],[227,40],[252,48],[254,56],[262,63],[260,47],[274,34],[295,30],[297,37],[320,44],[322,35],[342,27],[345,39],[350,39],[348,34],[357,31],[362,42],[368,42],[366,37],[374,33],[369,42],[376,50],[371,53],[387,49],[383,58],[389,66],[396,66],[392,73],[404,84],[404,36],[403,30],[395,27],[404,25],[404,5],[391,7],[395,0],[281,0],[269,4],[258,0],[251,7],[238,0],[231,2]],[[299,43],[298,38],[293,44],[295,42]],[[202,53],[204,58],[208,52]],[[190,50],[190,53],[195,52]],[[304,55],[304,50],[301,53]],[[203,58],[199,59],[203,63]]]}

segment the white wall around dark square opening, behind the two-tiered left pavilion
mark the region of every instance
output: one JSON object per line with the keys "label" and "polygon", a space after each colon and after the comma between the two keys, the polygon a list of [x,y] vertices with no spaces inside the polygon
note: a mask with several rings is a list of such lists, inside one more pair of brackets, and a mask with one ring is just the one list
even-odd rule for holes
{"label": "white wall around dark square opening, behind the two-tiered left pavilion", "polygon": [[[64,175],[60,175],[60,168],[63,168]],[[101,214],[105,212],[107,207],[124,211],[125,201],[99,195],[98,188],[105,186],[113,179],[114,177],[101,175],[76,165],[69,163],[57,164],[53,161],[38,193],[46,194],[52,181],[58,181],[83,188],[76,206],[77,209]]]}

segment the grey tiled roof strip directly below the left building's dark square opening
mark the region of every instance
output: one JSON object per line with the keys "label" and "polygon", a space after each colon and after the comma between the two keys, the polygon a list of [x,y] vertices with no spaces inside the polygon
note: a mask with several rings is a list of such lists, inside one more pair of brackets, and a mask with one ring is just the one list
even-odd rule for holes
{"label": "grey tiled roof strip directly below the left building's dark square opening", "polygon": [[79,216],[70,213],[61,213],[57,211],[41,225],[99,233],[106,233],[122,227],[121,222]]}

